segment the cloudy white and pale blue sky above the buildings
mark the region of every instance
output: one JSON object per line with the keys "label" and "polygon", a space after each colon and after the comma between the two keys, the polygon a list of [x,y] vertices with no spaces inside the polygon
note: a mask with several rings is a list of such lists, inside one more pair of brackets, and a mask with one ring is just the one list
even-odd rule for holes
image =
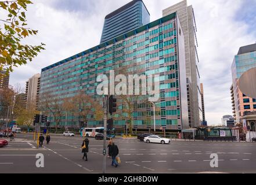
{"label": "cloudy white and pale blue sky above the buildings", "polygon": [[[104,16],[130,0],[34,0],[28,9],[30,28],[39,34],[26,40],[45,43],[33,62],[15,69],[10,84],[25,86],[45,66],[73,56],[100,42]],[[144,0],[150,21],[180,0]],[[232,114],[230,66],[240,46],[256,42],[256,0],[188,0],[193,5],[199,42],[199,70],[204,83],[205,116],[209,124]]]}

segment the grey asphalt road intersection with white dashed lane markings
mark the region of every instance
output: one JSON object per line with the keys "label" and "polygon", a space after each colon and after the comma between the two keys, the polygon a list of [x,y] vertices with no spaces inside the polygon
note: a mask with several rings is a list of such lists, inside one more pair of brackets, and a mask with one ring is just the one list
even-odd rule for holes
{"label": "grey asphalt road intersection with white dashed lane markings", "polygon": [[[0,148],[0,173],[102,173],[103,141],[89,138],[88,161],[82,160],[82,138],[51,136],[51,143],[37,149],[33,135],[19,134],[8,147]],[[171,145],[114,139],[121,165],[107,173],[256,173],[256,143],[182,142]],[[44,155],[44,168],[37,168],[36,155]],[[218,168],[211,168],[210,155],[218,154]]]}

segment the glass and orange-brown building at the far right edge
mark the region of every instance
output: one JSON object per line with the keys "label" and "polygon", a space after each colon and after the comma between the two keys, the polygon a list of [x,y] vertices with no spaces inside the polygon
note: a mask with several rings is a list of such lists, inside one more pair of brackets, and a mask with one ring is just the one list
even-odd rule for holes
{"label": "glass and orange-brown building at the far right edge", "polygon": [[256,44],[240,47],[239,52],[235,56],[232,64],[232,94],[233,114],[236,123],[242,123],[244,112],[256,111],[256,100],[246,97],[239,87],[239,79],[244,72],[256,68]]}

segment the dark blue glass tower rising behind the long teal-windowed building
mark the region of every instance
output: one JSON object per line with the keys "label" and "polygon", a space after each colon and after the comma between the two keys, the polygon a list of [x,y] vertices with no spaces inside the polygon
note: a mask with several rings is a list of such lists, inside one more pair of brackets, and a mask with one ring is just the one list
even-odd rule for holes
{"label": "dark blue glass tower rising behind the long teal-windowed building", "polygon": [[150,14],[142,0],[134,0],[105,17],[100,43],[149,24]]}

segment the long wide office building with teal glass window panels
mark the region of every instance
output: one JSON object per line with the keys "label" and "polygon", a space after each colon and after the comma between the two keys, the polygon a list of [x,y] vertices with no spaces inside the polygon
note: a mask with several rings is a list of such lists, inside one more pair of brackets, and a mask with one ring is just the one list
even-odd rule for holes
{"label": "long wide office building with teal glass window panels", "polygon": [[[156,129],[180,131],[189,127],[184,38],[176,13],[42,69],[40,94],[48,92],[61,100],[82,90],[102,99],[96,94],[99,84],[96,77],[122,68],[138,75],[160,75],[159,102],[162,103],[156,111]],[[118,96],[117,100],[120,112]],[[151,103],[136,103],[133,116],[135,128],[153,128]],[[122,128],[125,120],[117,114],[114,117],[114,127]],[[51,115],[48,118],[52,119]],[[103,124],[95,121],[93,115],[88,119],[88,127]],[[68,127],[77,127],[77,123],[77,117],[68,116]],[[65,116],[61,120],[61,125],[64,124]]]}

